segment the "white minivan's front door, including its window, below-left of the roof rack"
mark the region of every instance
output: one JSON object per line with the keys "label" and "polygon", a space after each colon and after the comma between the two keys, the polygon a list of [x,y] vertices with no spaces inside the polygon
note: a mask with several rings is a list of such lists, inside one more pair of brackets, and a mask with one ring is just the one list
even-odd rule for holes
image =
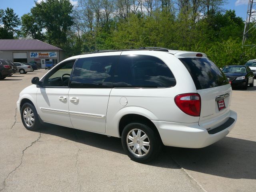
{"label": "white minivan's front door, including its window, below-left of the roof rack", "polygon": [[68,111],[69,78],[75,60],[51,70],[37,92],[38,114],[44,122],[73,127]]}

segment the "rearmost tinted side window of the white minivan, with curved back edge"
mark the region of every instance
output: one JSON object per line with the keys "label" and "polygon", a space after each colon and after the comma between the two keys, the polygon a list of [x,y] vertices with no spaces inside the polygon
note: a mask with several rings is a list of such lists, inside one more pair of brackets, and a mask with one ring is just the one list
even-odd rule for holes
{"label": "rearmost tinted side window of the white minivan, with curved back edge", "polygon": [[171,70],[154,56],[122,55],[114,72],[114,87],[164,88],[175,85]]}

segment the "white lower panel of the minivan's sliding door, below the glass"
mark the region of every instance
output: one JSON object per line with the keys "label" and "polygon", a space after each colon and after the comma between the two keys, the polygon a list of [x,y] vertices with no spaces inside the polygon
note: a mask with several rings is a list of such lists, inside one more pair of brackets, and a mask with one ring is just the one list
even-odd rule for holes
{"label": "white lower panel of the minivan's sliding door, below the glass", "polygon": [[111,88],[71,88],[69,113],[74,128],[105,133]]}

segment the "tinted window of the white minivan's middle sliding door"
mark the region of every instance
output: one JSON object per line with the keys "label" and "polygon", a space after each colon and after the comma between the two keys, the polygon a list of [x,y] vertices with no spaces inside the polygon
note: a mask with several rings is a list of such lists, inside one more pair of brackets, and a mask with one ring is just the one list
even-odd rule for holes
{"label": "tinted window of the white minivan's middle sliding door", "polygon": [[112,88],[113,66],[119,55],[80,58],[75,66],[71,88]]}

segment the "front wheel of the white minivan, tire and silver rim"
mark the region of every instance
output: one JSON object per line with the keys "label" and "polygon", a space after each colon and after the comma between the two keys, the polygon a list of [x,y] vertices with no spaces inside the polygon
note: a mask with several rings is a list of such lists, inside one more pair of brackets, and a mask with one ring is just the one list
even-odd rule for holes
{"label": "front wheel of the white minivan, tire and silver rim", "polygon": [[[31,110],[31,112],[30,112],[30,110]],[[26,113],[30,114],[30,116],[27,116],[27,118],[25,117]],[[31,115],[31,114],[33,114],[33,115]],[[20,115],[21,115],[22,123],[27,130],[35,131],[41,127],[36,108],[31,103],[24,103],[22,105],[21,110],[20,110]],[[34,117],[34,122],[32,120],[33,117]],[[27,119],[28,119],[28,121],[26,121]]]}

